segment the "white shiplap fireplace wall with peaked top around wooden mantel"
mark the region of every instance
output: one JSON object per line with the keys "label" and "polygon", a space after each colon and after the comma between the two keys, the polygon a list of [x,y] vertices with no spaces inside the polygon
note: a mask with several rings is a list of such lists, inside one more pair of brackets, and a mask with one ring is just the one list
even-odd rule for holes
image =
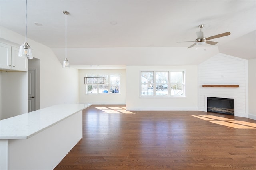
{"label": "white shiplap fireplace wall with peaked top around wooden mantel", "polygon": [[[207,97],[232,98],[235,116],[248,117],[248,61],[219,53],[198,65],[198,109],[207,111]],[[202,85],[239,85],[202,87]]]}

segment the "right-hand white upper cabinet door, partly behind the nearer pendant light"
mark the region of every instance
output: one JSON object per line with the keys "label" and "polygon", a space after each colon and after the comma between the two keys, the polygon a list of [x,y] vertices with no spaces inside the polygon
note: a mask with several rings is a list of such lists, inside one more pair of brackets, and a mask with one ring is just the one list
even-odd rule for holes
{"label": "right-hand white upper cabinet door, partly behind the nearer pendant light", "polygon": [[18,57],[19,49],[12,47],[12,70],[28,71],[28,59],[26,57]]}

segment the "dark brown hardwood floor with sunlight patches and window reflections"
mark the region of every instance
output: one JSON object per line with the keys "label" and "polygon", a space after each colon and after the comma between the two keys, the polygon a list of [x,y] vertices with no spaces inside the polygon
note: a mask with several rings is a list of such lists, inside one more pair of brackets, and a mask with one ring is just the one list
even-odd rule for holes
{"label": "dark brown hardwood floor with sunlight patches and window reflections", "polygon": [[92,105],[55,170],[256,170],[256,121],[201,111]]}

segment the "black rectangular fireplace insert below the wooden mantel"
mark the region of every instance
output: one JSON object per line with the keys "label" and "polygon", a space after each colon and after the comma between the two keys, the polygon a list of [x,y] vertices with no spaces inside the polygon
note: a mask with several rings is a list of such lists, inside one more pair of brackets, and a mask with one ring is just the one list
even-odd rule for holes
{"label": "black rectangular fireplace insert below the wooden mantel", "polygon": [[207,97],[207,111],[235,115],[234,99]]}

